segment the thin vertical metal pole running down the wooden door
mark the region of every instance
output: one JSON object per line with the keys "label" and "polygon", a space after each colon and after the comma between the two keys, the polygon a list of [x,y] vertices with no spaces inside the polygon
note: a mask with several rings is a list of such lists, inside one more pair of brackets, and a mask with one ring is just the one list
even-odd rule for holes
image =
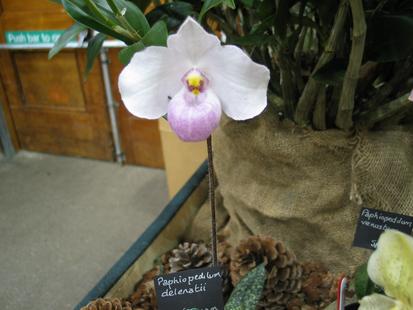
{"label": "thin vertical metal pole running down the wooden door", "polygon": [[105,87],[106,103],[108,107],[110,124],[112,128],[113,142],[115,144],[116,161],[122,164],[124,162],[124,154],[122,152],[122,147],[120,143],[118,118],[116,113],[117,105],[115,103],[115,100],[113,99],[112,84],[110,82],[109,74],[109,60],[106,48],[102,48],[100,52],[100,63],[102,67],[103,84]]}

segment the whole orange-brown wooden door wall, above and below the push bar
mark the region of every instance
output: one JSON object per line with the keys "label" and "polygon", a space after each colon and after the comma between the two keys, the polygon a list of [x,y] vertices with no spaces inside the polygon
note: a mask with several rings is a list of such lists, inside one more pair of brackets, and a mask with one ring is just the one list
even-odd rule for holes
{"label": "whole orange-brown wooden door wall, above and below the push bar", "polygon": [[[74,21],[50,0],[0,0],[0,42],[5,31],[59,30]],[[117,102],[122,69],[117,50],[110,51],[111,79]],[[10,127],[23,149],[113,160],[100,64],[83,81],[84,50],[64,51],[53,60],[47,51],[0,51],[0,77]],[[1,92],[1,89],[0,89]],[[126,162],[163,168],[157,121],[137,119],[124,106],[118,120]]]}

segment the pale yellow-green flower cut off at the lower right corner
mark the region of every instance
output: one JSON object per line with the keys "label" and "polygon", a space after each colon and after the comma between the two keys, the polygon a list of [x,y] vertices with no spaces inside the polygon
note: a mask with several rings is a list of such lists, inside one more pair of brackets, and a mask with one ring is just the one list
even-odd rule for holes
{"label": "pale yellow-green flower cut off at the lower right corner", "polygon": [[413,309],[413,237],[396,230],[385,231],[370,257],[367,271],[387,296],[364,297],[360,310]]}

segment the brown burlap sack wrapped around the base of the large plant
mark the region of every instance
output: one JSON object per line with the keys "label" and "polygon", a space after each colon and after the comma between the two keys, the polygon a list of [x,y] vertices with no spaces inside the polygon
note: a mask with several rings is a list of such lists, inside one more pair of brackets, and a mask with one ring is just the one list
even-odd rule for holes
{"label": "brown burlap sack wrapped around the base of the large plant", "polygon": [[371,253],[352,248],[361,206],[413,215],[413,130],[349,137],[302,130],[266,112],[247,122],[224,119],[213,141],[234,244],[268,234],[301,261],[346,271]]}

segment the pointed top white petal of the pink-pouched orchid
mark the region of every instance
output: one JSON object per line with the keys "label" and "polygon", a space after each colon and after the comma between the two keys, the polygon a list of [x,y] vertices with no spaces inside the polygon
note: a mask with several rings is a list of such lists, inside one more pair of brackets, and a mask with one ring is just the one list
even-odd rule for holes
{"label": "pointed top white petal of the pink-pouched orchid", "polygon": [[193,18],[188,17],[178,32],[168,37],[168,48],[186,58],[191,67],[196,67],[205,53],[220,46],[215,35],[209,34]]}

